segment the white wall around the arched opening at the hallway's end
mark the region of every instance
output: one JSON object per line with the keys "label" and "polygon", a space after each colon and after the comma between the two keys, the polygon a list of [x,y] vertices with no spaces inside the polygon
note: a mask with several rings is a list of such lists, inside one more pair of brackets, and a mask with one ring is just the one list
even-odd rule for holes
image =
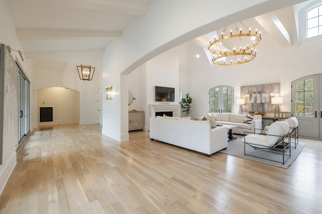
{"label": "white wall around the arched opening at the hallway's end", "polygon": [[[79,124],[98,123],[97,89],[101,88],[102,75],[100,68],[95,69],[93,80],[86,81],[79,79],[77,65],[74,63],[49,59],[35,59],[33,62],[34,84],[31,91],[34,95],[38,89],[47,87],[66,87],[76,90],[79,92]],[[33,102],[34,127],[37,127],[39,122],[37,102]]]}

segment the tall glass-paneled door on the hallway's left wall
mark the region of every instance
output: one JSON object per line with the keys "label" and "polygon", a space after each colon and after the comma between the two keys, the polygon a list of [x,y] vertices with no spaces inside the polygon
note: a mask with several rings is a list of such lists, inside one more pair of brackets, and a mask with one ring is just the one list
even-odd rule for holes
{"label": "tall glass-paneled door on the hallway's left wall", "polygon": [[29,132],[29,88],[30,84],[28,79],[25,77],[21,69],[18,67],[18,142],[16,145],[16,150],[22,144],[25,136]]}

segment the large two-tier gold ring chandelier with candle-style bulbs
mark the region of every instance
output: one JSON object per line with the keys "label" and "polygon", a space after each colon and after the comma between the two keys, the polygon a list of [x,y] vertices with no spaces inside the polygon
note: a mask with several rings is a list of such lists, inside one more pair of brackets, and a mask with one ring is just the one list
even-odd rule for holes
{"label": "large two-tier gold ring chandelier with candle-style bulbs", "polygon": [[224,36],[226,27],[221,32],[221,36],[214,41],[209,41],[208,50],[212,53],[211,61],[216,65],[237,65],[241,63],[247,63],[256,57],[255,47],[261,41],[261,32],[257,33],[251,31],[251,28],[245,26],[242,22],[240,25],[243,28],[237,28],[237,24],[234,24],[236,33],[230,30],[230,34]]}

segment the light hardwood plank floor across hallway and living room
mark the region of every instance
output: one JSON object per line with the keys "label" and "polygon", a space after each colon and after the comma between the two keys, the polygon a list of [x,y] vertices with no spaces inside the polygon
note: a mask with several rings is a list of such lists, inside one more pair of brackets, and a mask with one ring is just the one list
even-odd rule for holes
{"label": "light hardwood plank floor across hallway and living room", "polygon": [[[98,124],[38,128],[18,152],[0,213],[322,213],[322,142],[283,169],[211,157]],[[198,143],[198,142],[196,142]]]}

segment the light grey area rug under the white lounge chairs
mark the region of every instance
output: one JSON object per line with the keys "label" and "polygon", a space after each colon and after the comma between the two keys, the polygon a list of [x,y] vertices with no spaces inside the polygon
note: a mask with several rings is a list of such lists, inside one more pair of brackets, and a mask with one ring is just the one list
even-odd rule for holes
{"label": "light grey area rug under the white lounge chairs", "polygon": [[[229,154],[229,155],[233,155],[236,157],[241,157],[241,158],[245,158],[245,159],[249,159],[249,160],[254,160],[257,162],[261,162],[261,163],[266,163],[269,165],[273,165],[273,166],[278,166],[281,168],[288,168],[297,158],[297,156],[301,153],[302,149],[304,148],[305,144],[304,142],[299,142],[298,145],[295,148],[291,148],[291,157],[285,162],[285,164],[283,165],[283,163],[279,163],[279,162],[283,162],[283,155],[281,154],[274,154],[271,152],[265,152],[265,151],[260,151],[260,150],[254,150],[254,148],[252,148],[249,145],[246,145],[246,154],[253,154],[256,156],[261,156],[264,157],[266,159],[270,159],[270,160],[266,160],[266,159],[262,159],[262,158],[258,158],[258,157],[254,157],[254,156],[250,156],[250,155],[244,155],[244,141],[241,141],[241,135],[235,135],[234,137],[237,137],[237,139],[229,141],[228,142],[228,147],[226,150],[221,150],[220,152],[225,153],[225,154]],[[294,144],[292,143],[292,146],[294,146]],[[281,149],[276,149],[276,150],[281,150]],[[289,150],[287,149],[286,154],[289,154]],[[284,156],[284,158],[288,158],[288,156]],[[279,162],[275,162],[275,161],[279,161]]]}

